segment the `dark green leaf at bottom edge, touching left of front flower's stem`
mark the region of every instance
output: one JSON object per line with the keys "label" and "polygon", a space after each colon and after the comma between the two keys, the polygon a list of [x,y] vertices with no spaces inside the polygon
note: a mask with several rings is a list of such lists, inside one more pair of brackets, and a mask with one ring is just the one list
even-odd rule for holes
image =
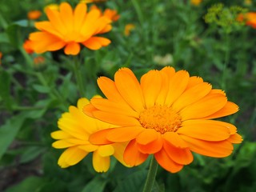
{"label": "dark green leaf at bottom edge, touching left of front flower's stem", "polygon": [[138,170],[127,176],[118,184],[114,192],[142,191],[146,181],[147,170]]}

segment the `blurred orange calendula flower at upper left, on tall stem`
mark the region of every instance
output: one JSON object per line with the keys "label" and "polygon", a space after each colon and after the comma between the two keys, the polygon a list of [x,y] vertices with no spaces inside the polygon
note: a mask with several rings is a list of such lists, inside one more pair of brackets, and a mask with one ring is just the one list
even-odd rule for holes
{"label": "blurred orange calendula flower at upper left, on tall stem", "polygon": [[37,54],[60,50],[65,54],[76,55],[80,52],[80,43],[90,50],[108,46],[110,40],[96,36],[111,30],[110,19],[101,16],[99,10],[86,12],[85,3],[79,3],[74,10],[67,2],[62,2],[58,10],[46,10],[49,21],[36,22],[38,32],[30,34],[33,49]]}

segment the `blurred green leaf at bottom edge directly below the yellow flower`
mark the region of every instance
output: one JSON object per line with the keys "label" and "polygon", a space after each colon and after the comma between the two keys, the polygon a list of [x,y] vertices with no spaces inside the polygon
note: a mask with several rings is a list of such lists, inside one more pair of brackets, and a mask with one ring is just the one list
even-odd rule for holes
{"label": "blurred green leaf at bottom edge directly below the yellow flower", "polygon": [[91,191],[97,191],[102,192],[104,191],[104,188],[106,186],[107,180],[104,178],[101,178],[100,176],[94,178],[91,180],[85,188],[83,188],[82,192],[91,192]]}

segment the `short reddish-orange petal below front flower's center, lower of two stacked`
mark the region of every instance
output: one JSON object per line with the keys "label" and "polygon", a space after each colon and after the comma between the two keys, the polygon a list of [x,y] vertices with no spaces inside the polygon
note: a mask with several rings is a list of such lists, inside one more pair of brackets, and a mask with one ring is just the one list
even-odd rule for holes
{"label": "short reddish-orange petal below front flower's center, lower of two stacked", "polygon": [[154,141],[141,145],[138,143],[138,150],[143,154],[155,154],[162,149],[162,136],[158,133],[158,137]]}

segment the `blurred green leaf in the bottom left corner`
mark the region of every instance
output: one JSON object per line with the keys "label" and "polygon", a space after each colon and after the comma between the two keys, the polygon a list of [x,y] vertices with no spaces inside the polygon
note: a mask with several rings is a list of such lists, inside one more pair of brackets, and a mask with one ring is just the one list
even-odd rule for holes
{"label": "blurred green leaf in the bottom left corner", "polygon": [[24,179],[22,182],[19,182],[15,186],[9,187],[5,192],[17,192],[17,191],[34,191],[38,192],[42,188],[43,185],[42,178],[38,177],[28,177]]}

